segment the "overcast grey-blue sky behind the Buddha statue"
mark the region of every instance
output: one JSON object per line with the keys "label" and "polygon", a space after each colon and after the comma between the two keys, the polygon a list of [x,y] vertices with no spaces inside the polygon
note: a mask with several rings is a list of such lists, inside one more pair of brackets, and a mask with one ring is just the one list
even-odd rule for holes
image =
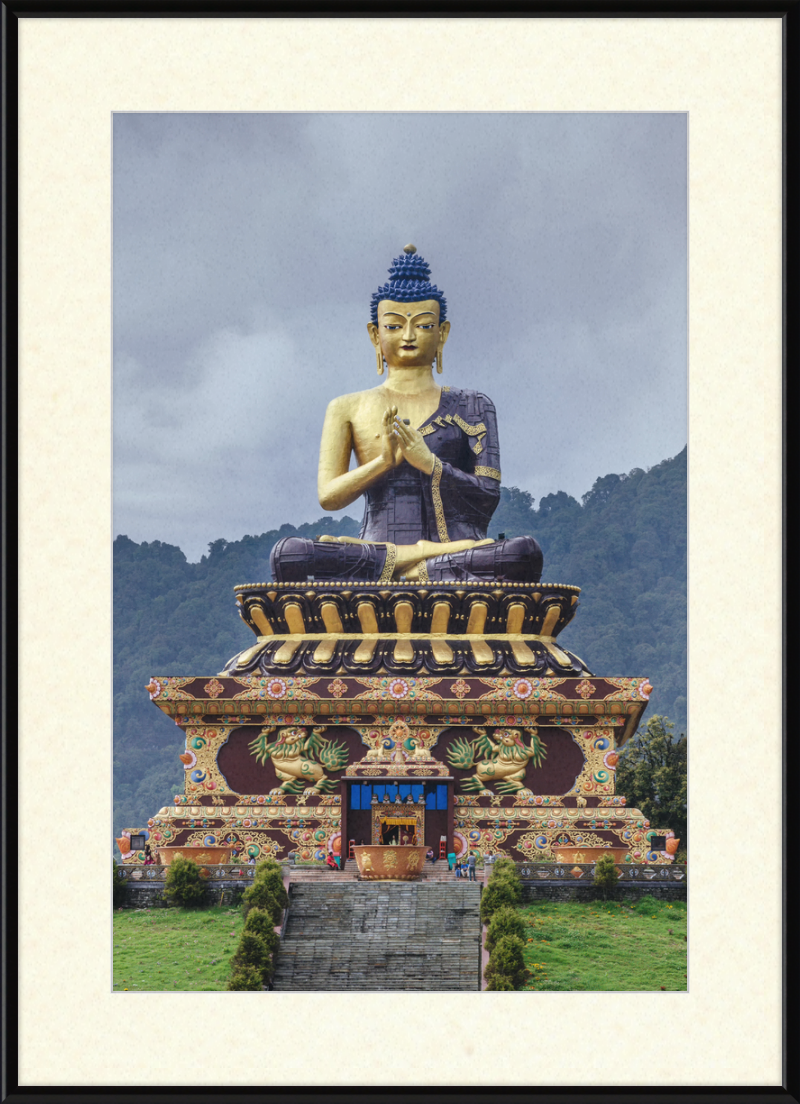
{"label": "overcast grey-blue sky behind the Buddha statue", "polygon": [[116,115],[115,533],[196,561],[322,517],[324,410],[380,382],[407,242],[506,486],[579,498],[686,444],[684,115]]}

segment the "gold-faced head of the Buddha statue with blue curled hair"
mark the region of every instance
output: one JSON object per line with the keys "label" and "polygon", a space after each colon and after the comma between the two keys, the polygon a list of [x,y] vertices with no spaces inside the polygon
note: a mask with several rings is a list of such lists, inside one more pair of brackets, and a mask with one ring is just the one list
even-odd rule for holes
{"label": "gold-faced head of the Buddha statue with blue curled hair", "polygon": [[447,341],[447,300],[430,283],[430,267],[406,245],[390,280],[372,296],[370,340],[390,368],[429,368]]}

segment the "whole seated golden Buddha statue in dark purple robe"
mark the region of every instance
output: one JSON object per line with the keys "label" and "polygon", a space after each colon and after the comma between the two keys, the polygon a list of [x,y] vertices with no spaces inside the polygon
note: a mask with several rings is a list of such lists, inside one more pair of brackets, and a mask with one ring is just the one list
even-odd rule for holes
{"label": "whole seated golden Buddha statue in dark purple robe", "polygon": [[334,399],[322,428],[320,505],[341,510],[363,496],[361,535],[284,538],[270,556],[276,582],[538,582],[542,550],[532,537],[487,538],[500,500],[494,406],[480,392],[435,382],[446,312],[429,266],[406,245],[372,297],[367,325],[386,380]]}

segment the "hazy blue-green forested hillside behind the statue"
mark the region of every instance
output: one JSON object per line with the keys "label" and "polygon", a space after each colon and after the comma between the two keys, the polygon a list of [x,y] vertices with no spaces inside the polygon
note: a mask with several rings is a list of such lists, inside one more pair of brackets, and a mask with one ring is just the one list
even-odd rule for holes
{"label": "hazy blue-green forested hillside behind the statue", "polygon": [[[149,700],[151,675],[214,675],[253,643],[233,596],[237,583],[268,580],[280,537],[356,535],[351,518],[281,526],[223,539],[200,563],[160,541],[114,542],[114,826],[138,827],[180,793],[179,729]],[[575,620],[559,641],[593,670],[647,676],[648,714],[686,726],[686,450],[649,471],[607,475],[583,501],[563,491],[535,509],[502,488],[489,531],[532,533],[544,550],[544,582],[582,587]]]}

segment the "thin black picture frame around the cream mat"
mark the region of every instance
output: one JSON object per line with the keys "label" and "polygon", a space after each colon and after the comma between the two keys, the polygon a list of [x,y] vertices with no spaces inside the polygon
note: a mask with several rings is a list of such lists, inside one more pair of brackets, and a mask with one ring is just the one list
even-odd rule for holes
{"label": "thin black picture frame around the cream mat", "polygon": [[[457,10],[449,6],[438,7],[425,6],[418,0],[409,0],[402,8],[387,7],[376,9],[374,3],[351,2],[346,9],[331,0],[329,3],[317,2],[295,2],[281,4],[265,4],[262,2],[245,2],[245,0],[232,0],[225,3],[224,0],[195,0],[194,3],[181,3],[178,0],[163,2],[163,0],[84,0],[84,2],[72,2],[72,0],[3,0],[2,4],[2,110],[3,110],[3,135],[2,135],[2,170],[3,170],[3,440],[6,444],[7,463],[3,467],[2,498],[3,498],[3,521],[4,532],[8,534],[13,528],[15,503],[15,475],[14,452],[18,444],[15,438],[15,365],[18,362],[18,331],[17,311],[19,306],[19,289],[14,279],[19,257],[19,242],[17,234],[17,222],[19,216],[18,193],[17,193],[17,164],[18,164],[18,123],[20,118],[20,103],[18,97],[18,65],[17,51],[19,45],[20,22],[25,19],[61,19],[61,18],[131,18],[141,17],[147,19],[179,18],[191,20],[193,18],[212,19],[238,19],[238,18],[275,18],[285,17],[292,19],[316,19],[335,15],[343,17],[391,17],[391,18],[452,18],[469,17],[474,19],[497,19],[497,18],[586,18],[593,19],[616,19],[620,17],[659,20],[669,17],[680,17],[687,19],[705,18],[740,18],[740,19],[779,19],[783,26],[783,304],[785,304],[785,330],[783,330],[783,364],[785,370],[793,365],[797,360],[797,308],[792,304],[798,301],[798,219],[797,219],[797,195],[798,195],[798,173],[791,153],[797,150],[798,142],[798,64],[800,54],[799,32],[800,23],[798,0],[725,0],[725,2],[714,2],[714,0],[562,0],[562,2],[532,2],[519,4],[506,4],[500,9],[490,10],[488,6],[461,3]],[[790,375],[786,376],[787,392]],[[785,415],[786,416],[786,415]],[[786,443],[786,435],[783,437]],[[786,445],[785,445],[786,447]],[[17,704],[13,696],[6,692],[10,686],[13,672],[13,659],[15,648],[12,645],[11,628],[17,625],[20,611],[17,604],[17,584],[19,564],[14,560],[11,542],[7,539],[3,542],[3,675],[6,679],[2,693],[3,709],[3,821],[2,821],[2,898],[3,898],[3,1069],[2,1069],[2,1091],[0,1096],[3,1102],[10,1104],[28,1101],[33,1104],[45,1104],[45,1102],[72,1102],[84,1101],[88,1097],[100,1100],[113,1100],[115,1102],[127,1102],[135,1100],[147,1101],[148,1104],[167,1104],[175,1100],[195,1101],[203,1097],[213,1100],[230,1100],[245,1097],[247,1100],[269,1101],[276,1104],[277,1101],[292,1101],[294,1104],[318,1104],[321,1096],[326,1098],[350,1098],[351,1096],[372,1095],[392,1096],[394,1098],[414,1098],[417,1104],[428,1104],[431,1101],[439,1101],[445,1097],[458,1095],[469,1095],[471,1101],[494,1101],[499,1096],[509,1102],[536,1101],[541,1104],[547,1102],[558,1102],[558,1104],[578,1104],[590,1100],[594,1104],[616,1104],[625,1100],[633,1102],[647,1102],[647,1104],[662,1104],[662,1102],[680,1100],[682,1104],[723,1104],[723,1102],[736,1101],[738,1104],[766,1104],[767,1101],[797,1101],[800,1100],[800,1076],[798,1075],[798,1048],[791,1043],[792,1038],[798,1034],[798,953],[796,942],[792,938],[791,920],[797,917],[796,906],[791,906],[789,900],[789,888],[794,881],[793,863],[790,857],[790,836],[787,821],[787,799],[789,796],[789,779],[793,779],[798,754],[796,743],[787,737],[786,732],[786,705],[783,707],[785,729],[783,729],[783,836],[786,841],[785,866],[783,866],[783,1008],[782,1008],[782,1031],[783,1031],[783,1073],[781,1085],[706,1085],[702,1071],[698,1072],[695,1084],[684,1084],[680,1086],[659,1087],[647,1085],[647,1070],[642,1070],[642,1084],[638,1086],[619,1085],[591,1086],[498,1086],[492,1090],[471,1086],[468,1083],[470,1063],[465,1062],[465,1084],[460,1087],[429,1087],[417,1086],[393,1087],[391,1084],[380,1086],[363,1086],[353,1084],[348,1087],[337,1086],[331,1089],[314,1089],[307,1085],[276,1085],[268,1090],[259,1086],[158,1086],[154,1084],[130,1085],[126,1087],[115,1085],[62,1085],[62,1086],[36,1086],[21,1085],[19,1083],[18,1062],[18,1034],[17,1017],[13,1015],[18,999],[18,968],[17,947],[21,934],[19,917],[17,915],[17,900],[19,891],[18,866],[11,850],[11,841],[14,837],[13,825],[19,813],[17,778],[18,778],[18,724]],[[786,560],[785,560],[786,564]],[[786,571],[786,566],[785,566]],[[19,739],[28,739],[28,734],[19,733]],[[71,856],[70,861],[77,859]],[[28,857],[25,861],[47,863],[49,878],[58,875],[58,860],[47,859],[44,841],[39,856]],[[67,875],[67,860],[63,863],[62,877]],[[44,878],[44,874],[43,874]],[[742,873],[743,888],[749,892],[758,893],[757,873],[744,871]],[[46,883],[43,881],[43,887]],[[43,906],[46,903],[46,892],[43,892]],[[57,999],[57,995],[53,995]],[[724,1030],[725,1009],[719,1009],[719,1017],[723,1021]],[[612,1042],[614,1025],[608,1025],[609,1041]],[[669,1032],[665,1032],[669,1036]],[[436,1031],[434,1031],[434,1037]],[[351,1041],[352,1043],[352,1041]],[[447,1043],[447,1040],[445,1040]],[[680,1044],[680,1040],[674,1040],[674,1044]],[[254,1045],[256,1037],[254,1036]],[[334,1041],[334,1047],[348,1045],[348,1041]],[[669,1043],[668,1043],[669,1044]],[[147,1071],[152,1075],[158,1075],[158,1062],[153,1065],[150,1059],[153,1057],[152,1048],[142,1049],[142,1072]],[[324,1060],[324,1049],[321,1048],[317,1055],[319,1061]],[[480,1051],[472,1059],[480,1060]],[[312,1061],[312,1058],[309,1058]]]}

